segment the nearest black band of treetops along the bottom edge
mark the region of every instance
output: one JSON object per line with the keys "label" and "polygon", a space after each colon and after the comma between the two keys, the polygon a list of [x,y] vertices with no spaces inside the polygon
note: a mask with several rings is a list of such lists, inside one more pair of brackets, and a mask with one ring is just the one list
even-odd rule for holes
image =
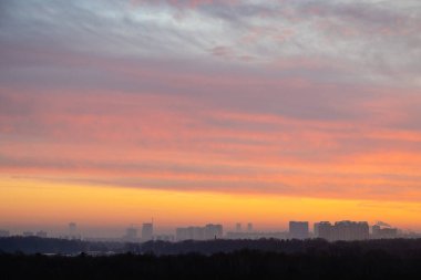
{"label": "nearest black band of treetops along the bottom edge", "polygon": [[285,255],[47,257],[3,255],[0,279],[421,279],[421,255]]}

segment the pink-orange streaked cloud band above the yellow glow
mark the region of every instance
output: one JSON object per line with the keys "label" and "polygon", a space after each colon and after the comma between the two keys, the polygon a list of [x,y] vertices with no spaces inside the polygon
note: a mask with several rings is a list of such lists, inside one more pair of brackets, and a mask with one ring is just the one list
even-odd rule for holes
{"label": "pink-orange streaked cloud band above the yellow glow", "polygon": [[373,128],[376,118],[302,120],[104,91],[0,96],[12,100],[0,114],[8,174],[317,197],[380,198],[387,185],[399,199],[418,197],[421,134]]}

